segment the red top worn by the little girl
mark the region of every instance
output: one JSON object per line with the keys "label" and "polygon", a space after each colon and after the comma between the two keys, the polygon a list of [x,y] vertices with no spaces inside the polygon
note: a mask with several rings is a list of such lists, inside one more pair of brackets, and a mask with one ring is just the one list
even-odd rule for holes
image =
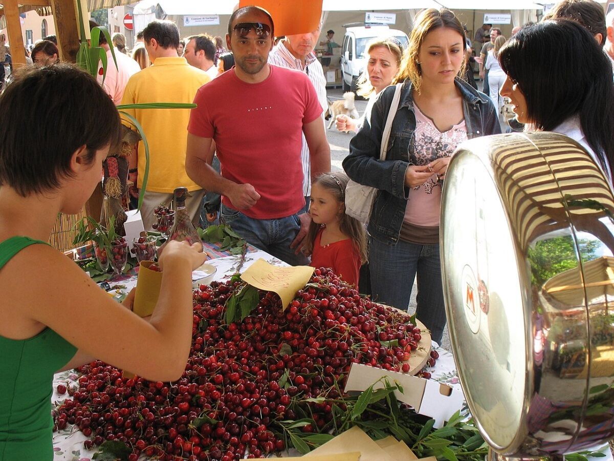
{"label": "red top worn by the little girl", "polygon": [[335,274],[343,278],[345,282],[354,285],[358,290],[358,279],[360,273],[360,254],[352,243],[352,240],[339,240],[339,242],[329,243],[322,246],[321,229],[313,242],[313,253],[311,254],[311,267],[330,267]]}

